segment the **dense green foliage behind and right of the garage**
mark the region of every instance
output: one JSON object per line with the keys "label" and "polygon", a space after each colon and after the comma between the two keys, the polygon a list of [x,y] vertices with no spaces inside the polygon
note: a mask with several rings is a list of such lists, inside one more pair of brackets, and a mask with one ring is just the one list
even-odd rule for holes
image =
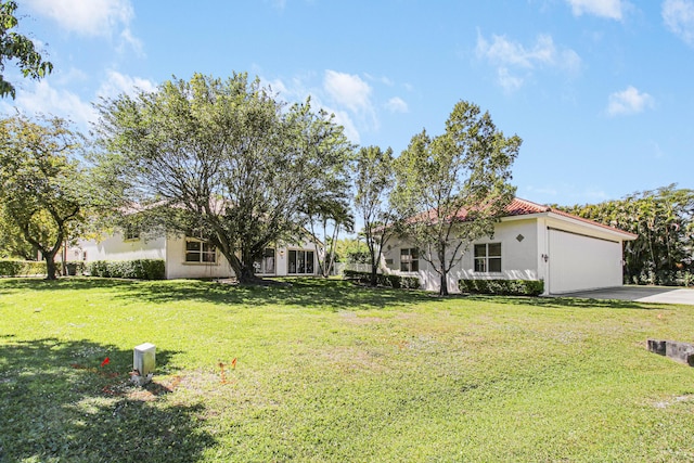
{"label": "dense green foliage behind and right of the garage", "polygon": [[694,190],[668,185],[563,209],[638,235],[625,243],[626,283],[682,284],[694,273]]}

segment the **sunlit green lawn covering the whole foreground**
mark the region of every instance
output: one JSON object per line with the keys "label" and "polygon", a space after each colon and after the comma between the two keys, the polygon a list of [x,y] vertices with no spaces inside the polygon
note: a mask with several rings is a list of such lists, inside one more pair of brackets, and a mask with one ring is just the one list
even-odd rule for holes
{"label": "sunlit green lawn covering the whole foreground", "polygon": [[0,280],[0,461],[694,460],[694,307],[292,282]]}

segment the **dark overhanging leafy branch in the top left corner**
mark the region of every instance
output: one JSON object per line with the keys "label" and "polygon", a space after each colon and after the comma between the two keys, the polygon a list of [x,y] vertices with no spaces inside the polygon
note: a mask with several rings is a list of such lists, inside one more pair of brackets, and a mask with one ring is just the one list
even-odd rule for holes
{"label": "dark overhanging leafy branch in the top left corner", "polygon": [[8,61],[16,60],[24,77],[39,79],[53,70],[53,65],[43,61],[30,39],[12,31],[18,25],[15,1],[0,1],[0,98],[16,97],[14,86],[2,76]]}

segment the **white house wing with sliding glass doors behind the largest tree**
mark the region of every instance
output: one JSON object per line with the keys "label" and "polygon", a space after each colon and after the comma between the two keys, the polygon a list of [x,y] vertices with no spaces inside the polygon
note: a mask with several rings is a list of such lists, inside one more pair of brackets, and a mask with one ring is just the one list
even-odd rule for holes
{"label": "white house wing with sliding glass doors behind the largest tree", "polygon": [[[67,261],[163,259],[165,278],[230,278],[227,258],[205,240],[163,234],[145,236],[136,230],[117,230],[103,240],[81,240],[66,252]],[[312,242],[268,247],[254,262],[260,276],[318,274],[318,255]]]}

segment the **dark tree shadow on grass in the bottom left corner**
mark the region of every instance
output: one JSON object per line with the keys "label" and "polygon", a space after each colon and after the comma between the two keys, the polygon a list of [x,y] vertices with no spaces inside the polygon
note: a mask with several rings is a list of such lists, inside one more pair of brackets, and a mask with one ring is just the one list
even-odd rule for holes
{"label": "dark tree shadow on grass in the bottom left corner", "polygon": [[[215,443],[196,427],[203,406],[166,401],[176,381],[130,385],[132,351],[11,334],[1,340],[0,461],[195,462]],[[156,352],[157,371],[174,353]]]}

